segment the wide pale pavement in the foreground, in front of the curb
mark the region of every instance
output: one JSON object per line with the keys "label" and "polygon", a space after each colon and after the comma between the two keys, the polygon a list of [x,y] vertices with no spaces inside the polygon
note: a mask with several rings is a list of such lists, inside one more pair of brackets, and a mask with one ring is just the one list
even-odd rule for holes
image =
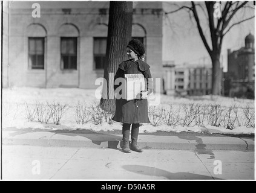
{"label": "wide pale pavement in the foreground, in front of the curb", "polygon": [[2,154],[4,180],[254,180],[253,151],[3,145]]}

